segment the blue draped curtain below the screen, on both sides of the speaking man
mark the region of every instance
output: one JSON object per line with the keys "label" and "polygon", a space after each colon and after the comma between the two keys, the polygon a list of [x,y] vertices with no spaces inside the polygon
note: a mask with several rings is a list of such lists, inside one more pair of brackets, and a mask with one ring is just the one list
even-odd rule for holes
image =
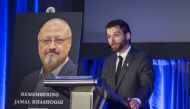
{"label": "blue draped curtain below the screen, on both sides of the speaking man", "polygon": [[[85,75],[98,77],[103,59],[80,59]],[[149,99],[151,109],[190,109],[190,60],[153,59],[154,92]]]}

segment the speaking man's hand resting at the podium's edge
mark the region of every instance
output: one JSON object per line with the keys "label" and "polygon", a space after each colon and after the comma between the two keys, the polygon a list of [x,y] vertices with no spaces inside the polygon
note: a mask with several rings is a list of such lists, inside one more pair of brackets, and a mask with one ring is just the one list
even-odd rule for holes
{"label": "speaking man's hand resting at the podium's edge", "polygon": [[140,109],[140,103],[134,98],[127,98],[127,102],[129,103],[129,107],[131,109]]}

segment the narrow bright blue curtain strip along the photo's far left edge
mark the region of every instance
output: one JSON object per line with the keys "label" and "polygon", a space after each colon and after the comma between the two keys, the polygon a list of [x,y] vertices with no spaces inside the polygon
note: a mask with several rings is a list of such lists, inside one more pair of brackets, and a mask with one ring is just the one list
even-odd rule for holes
{"label": "narrow bright blue curtain strip along the photo's far left edge", "polygon": [[0,1],[0,108],[5,108],[8,2]]}

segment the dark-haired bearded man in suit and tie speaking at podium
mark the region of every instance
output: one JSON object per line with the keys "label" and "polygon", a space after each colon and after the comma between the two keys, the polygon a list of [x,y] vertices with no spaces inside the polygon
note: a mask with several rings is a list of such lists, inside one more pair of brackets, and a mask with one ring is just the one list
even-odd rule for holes
{"label": "dark-haired bearded man in suit and tie speaking at podium", "polygon": [[[148,99],[154,88],[154,68],[151,58],[131,45],[131,31],[121,20],[106,25],[106,35],[114,54],[105,59],[101,77],[106,86],[120,95],[131,109],[149,109]],[[108,97],[107,109],[126,109]]]}

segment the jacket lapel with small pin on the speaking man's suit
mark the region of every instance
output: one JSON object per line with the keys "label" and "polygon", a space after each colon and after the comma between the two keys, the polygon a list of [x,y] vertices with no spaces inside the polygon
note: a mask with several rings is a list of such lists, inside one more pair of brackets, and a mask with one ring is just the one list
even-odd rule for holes
{"label": "jacket lapel with small pin on the speaking man's suit", "polygon": [[120,75],[119,75],[119,78],[118,78],[118,82],[116,84],[116,90],[118,89],[118,87],[120,86],[121,84],[121,81],[123,80],[123,78],[125,77],[125,74],[128,72],[128,69],[130,67],[130,65],[132,64],[132,61],[133,61],[133,52],[134,52],[134,48],[131,47],[131,50],[129,51],[124,63],[123,63],[123,66],[121,68],[121,72],[120,72]]}

